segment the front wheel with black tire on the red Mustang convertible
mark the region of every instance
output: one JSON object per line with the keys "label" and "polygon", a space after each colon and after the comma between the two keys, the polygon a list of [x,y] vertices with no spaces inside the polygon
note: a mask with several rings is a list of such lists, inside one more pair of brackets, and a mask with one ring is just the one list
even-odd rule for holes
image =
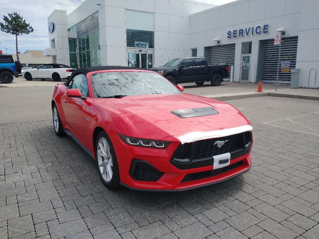
{"label": "front wheel with black tire on the red Mustang convertible", "polygon": [[104,131],[100,132],[97,136],[95,158],[103,184],[110,189],[118,188],[120,185],[120,174],[115,150],[110,138]]}

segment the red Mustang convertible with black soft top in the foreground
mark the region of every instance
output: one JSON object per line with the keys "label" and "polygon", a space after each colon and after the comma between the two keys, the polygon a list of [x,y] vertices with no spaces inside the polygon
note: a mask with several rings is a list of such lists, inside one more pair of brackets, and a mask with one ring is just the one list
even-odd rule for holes
{"label": "red Mustang convertible with black soft top in the foreground", "polygon": [[249,120],[183,89],[139,68],[77,69],[54,89],[54,130],[96,160],[112,189],[182,191],[247,172]]}

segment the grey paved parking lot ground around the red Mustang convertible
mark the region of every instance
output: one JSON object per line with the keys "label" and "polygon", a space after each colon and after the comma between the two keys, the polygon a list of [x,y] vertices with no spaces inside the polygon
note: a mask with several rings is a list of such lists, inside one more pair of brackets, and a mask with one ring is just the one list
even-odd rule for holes
{"label": "grey paved parking lot ground around the red Mustang convertible", "polygon": [[[206,84],[185,92],[216,89]],[[0,88],[1,238],[319,238],[318,101],[227,100],[254,127],[246,174],[186,192],[111,191],[54,133],[53,89]]]}

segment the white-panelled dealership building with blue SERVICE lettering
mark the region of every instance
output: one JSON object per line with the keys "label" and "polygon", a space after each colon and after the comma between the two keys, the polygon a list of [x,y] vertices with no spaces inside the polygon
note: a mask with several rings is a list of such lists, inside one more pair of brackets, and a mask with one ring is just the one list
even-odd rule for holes
{"label": "white-panelled dealership building with blue SERVICE lettering", "polygon": [[315,88],[317,9],[318,0],[238,0],[220,6],[189,0],[86,0],[69,15],[51,13],[50,48],[43,54],[71,67],[145,69],[177,57],[204,56],[211,65],[233,66],[229,80],[235,82],[275,83],[279,72],[278,83],[290,83],[291,69],[300,69],[299,87],[307,87],[310,76],[309,86]]}

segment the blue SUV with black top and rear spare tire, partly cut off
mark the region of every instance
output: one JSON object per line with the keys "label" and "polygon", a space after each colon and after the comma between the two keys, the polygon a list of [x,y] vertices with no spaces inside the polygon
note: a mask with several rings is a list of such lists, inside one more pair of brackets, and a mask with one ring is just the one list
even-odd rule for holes
{"label": "blue SUV with black top and rear spare tire, partly cut off", "polygon": [[21,73],[20,62],[14,62],[12,55],[0,55],[0,81],[11,83],[13,76],[18,77]]}

